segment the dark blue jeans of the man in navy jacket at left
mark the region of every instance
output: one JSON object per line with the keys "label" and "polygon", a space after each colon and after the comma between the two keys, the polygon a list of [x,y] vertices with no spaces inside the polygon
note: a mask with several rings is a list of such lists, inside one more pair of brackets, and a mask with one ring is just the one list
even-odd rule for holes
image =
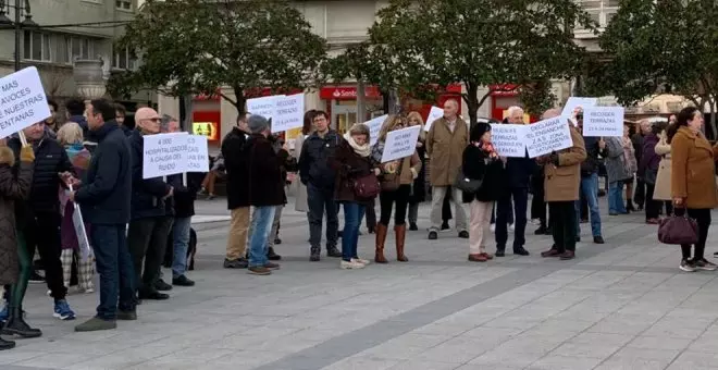
{"label": "dark blue jeans of the man in navy jacket at left", "polygon": [[135,271],[127,249],[125,224],[92,224],[90,240],[97,272],[100,274],[100,305],[97,306],[97,317],[115,320],[117,308],[122,311],[135,309]]}

